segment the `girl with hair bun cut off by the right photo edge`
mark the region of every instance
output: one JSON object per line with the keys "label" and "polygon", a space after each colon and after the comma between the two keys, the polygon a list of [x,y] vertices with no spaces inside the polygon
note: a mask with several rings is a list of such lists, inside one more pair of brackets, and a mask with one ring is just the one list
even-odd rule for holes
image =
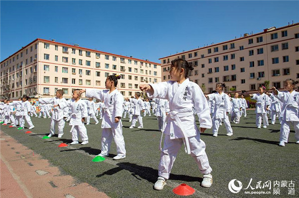
{"label": "girl with hair bun cut off by the right photo edge", "polygon": [[298,84],[298,81],[287,79],[284,82],[286,92],[279,91],[276,87],[272,87],[275,97],[283,102],[282,125],[279,140],[280,146],[285,146],[285,143],[288,143],[291,125],[293,125],[295,129],[296,143],[299,144],[299,92],[294,90],[296,84]]}

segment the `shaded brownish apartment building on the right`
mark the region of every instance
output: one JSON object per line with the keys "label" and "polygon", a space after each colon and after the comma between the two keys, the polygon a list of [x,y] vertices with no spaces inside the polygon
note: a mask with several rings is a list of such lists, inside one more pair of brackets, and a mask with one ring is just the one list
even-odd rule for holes
{"label": "shaded brownish apartment building on the right", "polygon": [[265,81],[283,88],[287,78],[299,80],[299,23],[160,58],[162,81],[177,58],[194,66],[189,78],[206,93],[217,82],[226,84],[225,92],[256,91]]}

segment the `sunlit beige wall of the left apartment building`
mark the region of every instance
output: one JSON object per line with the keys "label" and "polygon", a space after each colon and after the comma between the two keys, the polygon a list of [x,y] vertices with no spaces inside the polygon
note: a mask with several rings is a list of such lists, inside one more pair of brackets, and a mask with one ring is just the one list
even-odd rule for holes
{"label": "sunlit beige wall of the left apartment building", "polygon": [[[37,65],[37,72],[30,74],[28,73],[24,76],[23,80],[29,80],[30,77],[32,78],[33,76],[35,76],[37,78],[37,83],[33,84],[32,82],[30,84],[30,88],[36,88],[35,92],[44,95],[45,97],[47,97],[48,95],[54,96],[55,90],[57,89],[64,89],[65,97],[70,97],[72,89],[76,88],[105,89],[106,76],[113,73],[122,75],[122,78],[118,81],[118,88],[125,97],[134,95],[134,92],[139,91],[138,87],[141,83],[161,81],[160,65],[153,62],[90,50],[78,46],[66,45],[63,43],[57,43],[54,41],[47,41],[43,39],[37,39],[35,43],[38,44],[38,47],[34,52],[35,54],[37,54],[37,60],[33,65]],[[35,43],[33,44],[33,49],[35,47]],[[65,49],[67,48],[66,52],[63,52],[63,47],[65,47]],[[30,46],[26,46],[25,48],[30,49]],[[22,51],[24,51],[25,48]],[[75,53],[73,53],[73,49]],[[79,50],[82,50],[82,55],[79,55]],[[88,56],[86,52],[90,52],[90,56]],[[99,54],[99,56],[97,57],[96,54]],[[105,55],[109,56],[108,60],[105,58]],[[30,54],[28,56],[32,55]],[[55,56],[57,56],[57,60],[55,59]],[[67,63],[63,61],[63,57],[68,59]],[[75,63],[72,63],[72,59],[75,59]],[[79,60],[82,60],[82,65],[79,65]],[[131,63],[129,62],[129,60],[131,60]],[[86,65],[86,61],[90,62],[90,66]],[[3,73],[5,70],[9,69],[9,67],[12,66],[11,64],[8,64],[8,66],[6,66],[4,63],[6,63],[6,60],[1,62],[1,71],[3,70]],[[100,63],[100,66],[96,66],[96,63]],[[109,68],[106,68],[105,64],[109,64]],[[31,65],[31,63],[29,63],[29,65],[24,65],[24,69],[30,69],[30,66],[33,65]],[[130,68],[131,71],[129,70]],[[19,71],[21,70],[22,69],[19,68]],[[79,74],[79,70],[82,70],[82,74]],[[129,79],[129,76],[131,76],[132,79]],[[2,76],[0,77],[0,79],[1,78]],[[3,76],[3,79],[5,79],[5,75]],[[11,82],[11,84],[12,83],[13,82]],[[15,92],[13,89],[6,90],[5,88],[5,86],[1,87],[2,95],[5,96],[6,94],[8,94],[10,95],[9,97],[13,97],[13,95],[15,96]],[[16,91],[21,91],[22,87],[19,86],[18,88],[19,89],[17,89]],[[31,90],[31,93],[29,93],[28,88],[29,87],[25,85],[25,93],[34,95],[34,91]]]}

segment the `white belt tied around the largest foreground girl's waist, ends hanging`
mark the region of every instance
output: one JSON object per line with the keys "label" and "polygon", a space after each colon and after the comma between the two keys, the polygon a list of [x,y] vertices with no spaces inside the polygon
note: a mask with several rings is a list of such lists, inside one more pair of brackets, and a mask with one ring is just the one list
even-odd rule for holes
{"label": "white belt tied around the largest foreground girl's waist, ends hanging", "polygon": [[[164,126],[166,125],[166,123],[167,123],[167,121],[168,121],[169,118],[176,121],[178,127],[183,132],[183,135],[184,135],[184,138],[185,138],[185,142],[186,142],[187,153],[190,154],[191,152],[190,152],[189,140],[188,140],[187,134],[185,132],[185,128],[183,127],[183,124],[180,121],[180,117],[178,116],[178,114],[179,114],[180,117],[193,116],[193,111],[192,112],[176,112],[176,111],[169,112],[167,114],[165,120],[164,120]],[[163,129],[164,129],[164,126],[163,126]],[[162,150],[162,137],[163,137],[163,133],[164,132],[162,132],[161,140],[160,140],[160,150]],[[174,139],[173,126],[172,125],[170,125],[170,139]]]}

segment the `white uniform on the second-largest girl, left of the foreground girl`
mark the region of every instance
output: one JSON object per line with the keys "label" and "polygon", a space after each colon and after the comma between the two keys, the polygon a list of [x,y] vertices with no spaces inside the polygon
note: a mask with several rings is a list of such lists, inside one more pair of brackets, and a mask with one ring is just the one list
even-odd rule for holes
{"label": "white uniform on the second-largest girl, left of the foreground girl", "polygon": [[117,89],[111,93],[109,92],[110,90],[86,89],[86,97],[94,97],[98,100],[104,101],[105,104],[105,107],[103,108],[104,116],[101,125],[103,130],[101,154],[109,154],[113,138],[116,144],[117,154],[120,156],[126,156],[122,120],[120,119],[118,123],[115,123],[116,117],[122,118],[124,96]]}

